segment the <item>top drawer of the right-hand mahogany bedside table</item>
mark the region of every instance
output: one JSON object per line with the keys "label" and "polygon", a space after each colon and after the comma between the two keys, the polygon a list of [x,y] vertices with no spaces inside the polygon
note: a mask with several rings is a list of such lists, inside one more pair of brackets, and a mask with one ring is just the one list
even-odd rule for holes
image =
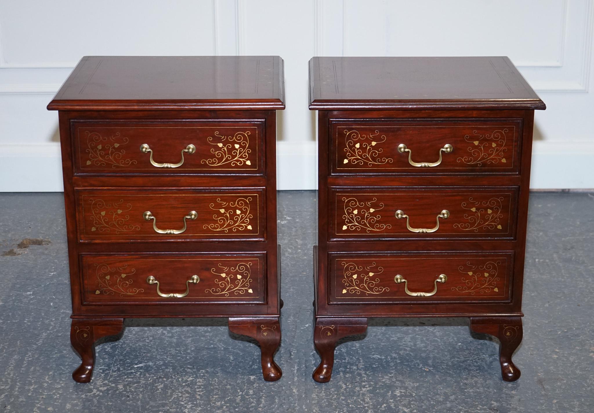
{"label": "top drawer of the right-hand mahogany bedside table", "polygon": [[336,120],[330,131],[332,174],[519,173],[520,119]]}

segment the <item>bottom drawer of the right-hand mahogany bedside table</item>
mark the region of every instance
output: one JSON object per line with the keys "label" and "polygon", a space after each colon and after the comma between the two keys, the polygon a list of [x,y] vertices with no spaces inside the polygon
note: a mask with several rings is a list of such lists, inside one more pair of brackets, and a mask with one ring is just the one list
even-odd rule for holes
{"label": "bottom drawer of the right-hand mahogany bedside table", "polygon": [[331,303],[449,303],[510,299],[511,252],[331,253],[328,258]]}

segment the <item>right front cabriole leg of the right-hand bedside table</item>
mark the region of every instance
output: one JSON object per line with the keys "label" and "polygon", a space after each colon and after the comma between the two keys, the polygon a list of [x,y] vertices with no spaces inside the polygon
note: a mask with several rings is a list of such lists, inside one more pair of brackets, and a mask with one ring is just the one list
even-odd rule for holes
{"label": "right front cabriole leg of the right-hand bedside table", "polygon": [[500,341],[499,363],[501,364],[501,377],[505,382],[515,382],[522,372],[511,361],[511,356],[522,342],[522,318],[470,318],[470,329],[477,333],[495,336]]}

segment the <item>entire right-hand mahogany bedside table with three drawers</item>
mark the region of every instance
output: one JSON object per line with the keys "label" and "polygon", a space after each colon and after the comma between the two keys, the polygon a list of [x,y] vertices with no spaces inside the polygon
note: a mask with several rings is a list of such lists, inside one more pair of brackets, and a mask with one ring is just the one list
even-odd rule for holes
{"label": "entire right-hand mahogany bedside table with three drawers", "polygon": [[517,380],[535,109],[510,59],[313,58],[317,382],[368,317],[469,317]]}

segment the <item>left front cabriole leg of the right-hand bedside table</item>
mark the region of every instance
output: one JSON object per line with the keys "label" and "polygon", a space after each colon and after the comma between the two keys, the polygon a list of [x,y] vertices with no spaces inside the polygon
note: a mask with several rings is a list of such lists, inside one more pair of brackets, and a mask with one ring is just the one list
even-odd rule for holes
{"label": "left front cabriole leg of the right-hand bedside table", "polygon": [[315,320],[314,345],[320,353],[320,365],[315,369],[313,377],[318,383],[327,383],[332,376],[334,366],[334,348],[339,339],[355,334],[365,333],[367,319],[328,319]]}

